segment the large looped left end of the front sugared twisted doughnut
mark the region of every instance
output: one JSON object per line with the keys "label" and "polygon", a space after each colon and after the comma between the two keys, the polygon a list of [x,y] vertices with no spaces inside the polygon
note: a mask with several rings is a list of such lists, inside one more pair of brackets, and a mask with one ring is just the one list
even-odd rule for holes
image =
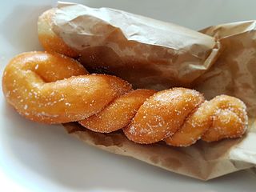
{"label": "large looped left end of the front sugared twisted doughnut", "polygon": [[121,78],[87,74],[72,58],[29,52],[19,54],[6,66],[2,87],[18,113],[46,123],[89,117],[131,90]]}

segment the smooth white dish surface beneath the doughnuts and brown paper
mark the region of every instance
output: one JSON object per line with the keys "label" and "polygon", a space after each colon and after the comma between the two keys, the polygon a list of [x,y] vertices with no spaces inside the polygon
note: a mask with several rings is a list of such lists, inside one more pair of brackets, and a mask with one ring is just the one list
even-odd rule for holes
{"label": "smooth white dish surface beneath the doughnuts and brown paper", "polygon": [[[256,19],[254,0],[133,1],[87,0],[87,6],[109,6],[175,22],[192,29],[222,22]],[[42,50],[37,18],[53,0],[1,0],[0,67],[15,54]],[[248,170],[200,182],[132,158],[86,146],[62,126],[46,126],[19,116],[0,95],[1,191],[255,191]]]}

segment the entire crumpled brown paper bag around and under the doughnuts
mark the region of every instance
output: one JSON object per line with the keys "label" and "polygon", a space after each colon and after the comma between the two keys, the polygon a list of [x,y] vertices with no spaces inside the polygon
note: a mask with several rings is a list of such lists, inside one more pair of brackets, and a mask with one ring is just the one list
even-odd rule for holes
{"label": "entire crumpled brown paper bag around and under the doughnuts", "polygon": [[234,95],[246,102],[250,114],[243,138],[198,141],[185,148],[139,145],[122,131],[99,134],[78,123],[64,125],[70,134],[102,150],[202,180],[256,165],[256,22],[211,26],[202,34],[121,10],[59,3],[54,23],[54,32],[90,70],[111,72],[136,87],[192,86],[206,98]]}

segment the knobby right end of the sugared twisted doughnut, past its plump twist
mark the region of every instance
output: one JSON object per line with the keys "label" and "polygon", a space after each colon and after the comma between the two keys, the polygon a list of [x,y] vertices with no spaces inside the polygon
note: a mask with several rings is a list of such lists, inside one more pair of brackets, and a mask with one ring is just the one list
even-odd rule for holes
{"label": "knobby right end of the sugared twisted doughnut, past its plump twist", "polygon": [[200,138],[206,142],[239,138],[247,124],[245,104],[238,98],[220,95],[202,103],[165,142],[171,146],[190,146]]}

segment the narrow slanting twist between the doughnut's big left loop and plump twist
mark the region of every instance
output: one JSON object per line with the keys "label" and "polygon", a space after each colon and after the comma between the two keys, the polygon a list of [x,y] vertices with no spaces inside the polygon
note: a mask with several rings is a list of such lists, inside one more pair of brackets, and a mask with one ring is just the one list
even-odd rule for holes
{"label": "narrow slanting twist between the doughnut's big left loop and plump twist", "polygon": [[149,98],[154,90],[132,90],[116,98],[98,114],[94,114],[79,123],[87,129],[101,133],[110,133],[127,126],[137,110],[142,106],[146,98]]}

